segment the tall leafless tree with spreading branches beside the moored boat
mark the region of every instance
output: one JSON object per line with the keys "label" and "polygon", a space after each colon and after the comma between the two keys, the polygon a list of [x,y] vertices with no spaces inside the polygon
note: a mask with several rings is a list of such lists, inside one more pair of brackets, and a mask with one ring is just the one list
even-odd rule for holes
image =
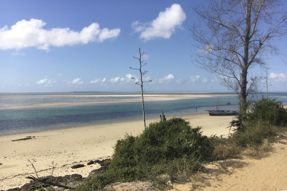
{"label": "tall leafless tree with spreading branches beside the moored boat", "polygon": [[207,8],[193,8],[201,19],[190,29],[200,49],[192,62],[222,76],[221,84],[238,94],[241,123],[247,96],[263,79],[249,69],[264,68],[263,54],[278,53],[272,40],[287,34],[287,13],[278,8],[279,0],[210,0]]}

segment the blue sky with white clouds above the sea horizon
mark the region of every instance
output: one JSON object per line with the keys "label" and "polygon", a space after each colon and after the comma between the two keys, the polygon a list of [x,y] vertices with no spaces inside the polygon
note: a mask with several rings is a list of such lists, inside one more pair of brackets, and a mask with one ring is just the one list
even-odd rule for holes
{"label": "blue sky with white clouds above the sea horizon", "polygon": [[[0,92],[140,91],[131,79],[139,72],[129,68],[139,68],[139,48],[152,80],[145,91],[228,91],[191,62],[189,28],[199,19],[191,7],[199,3],[0,1]],[[286,38],[276,45],[286,55]],[[268,90],[286,92],[286,56],[266,55],[266,63]]]}

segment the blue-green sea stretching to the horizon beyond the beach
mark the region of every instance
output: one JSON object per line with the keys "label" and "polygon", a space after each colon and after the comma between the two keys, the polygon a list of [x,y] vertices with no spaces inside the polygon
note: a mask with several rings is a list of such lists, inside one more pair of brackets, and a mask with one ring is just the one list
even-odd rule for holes
{"label": "blue-green sea stretching to the horizon beyond the beach", "polygon": [[[138,94],[139,101],[126,95]],[[153,94],[153,93],[148,93]],[[181,94],[181,93],[154,93]],[[182,93],[197,94],[197,93]],[[145,101],[146,119],[160,119],[161,112],[165,116],[181,116],[193,113],[206,113],[217,105],[220,94],[220,110],[237,110],[239,100],[236,94],[212,94],[213,97],[197,97],[170,101]],[[94,95],[97,95],[96,97]],[[117,95],[116,97],[111,95]],[[223,96],[222,96],[223,95]],[[226,96],[224,96],[226,95]],[[266,93],[257,94],[260,99]],[[47,131],[84,125],[117,123],[143,119],[141,95],[139,93],[0,93],[0,136]],[[270,92],[268,98],[287,103],[287,92]],[[121,102],[123,101],[123,102]],[[230,101],[230,105],[226,102]],[[256,101],[256,100],[255,100]],[[15,105],[34,105],[43,103],[69,103],[70,105],[43,105],[30,107],[9,107]],[[87,103],[88,102],[88,103]],[[197,109],[196,109],[197,107]],[[148,125],[148,124],[147,124]]]}

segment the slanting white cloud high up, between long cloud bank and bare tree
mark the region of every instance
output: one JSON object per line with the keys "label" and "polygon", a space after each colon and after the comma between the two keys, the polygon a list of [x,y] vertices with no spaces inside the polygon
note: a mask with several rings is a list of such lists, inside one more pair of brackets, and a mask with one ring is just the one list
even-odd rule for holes
{"label": "slanting white cloud high up, between long cloud bank and bare tree", "polygon": [[154,38],[170,38],[175,33],[176,27],[181,27],[186,15],[179,4],[173,4],[158,14],[158,17],[150,23],[135,21],[132,27],[136,32],[141,32],[139,38],[145,41]]}

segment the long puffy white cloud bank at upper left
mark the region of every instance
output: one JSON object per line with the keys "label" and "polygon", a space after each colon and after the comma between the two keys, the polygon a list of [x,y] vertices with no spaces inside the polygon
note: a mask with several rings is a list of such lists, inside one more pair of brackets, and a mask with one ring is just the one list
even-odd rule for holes
{"label": "long puffy white cloud bank at upper left", "polygon": [[[106,39],[119,36],[121,29],[100,29],[98,23],[84,27],[82,31],[70,28],[43,29],[46,23],[39,19],[18,21],[11,29],[5,25],[0,28],[0,49],[20,50],[27,47],[37,47],[49,51],[50,46],[72,46],[88,42],[103,42]],[[14,53],[16,54],[16,53]]]}

